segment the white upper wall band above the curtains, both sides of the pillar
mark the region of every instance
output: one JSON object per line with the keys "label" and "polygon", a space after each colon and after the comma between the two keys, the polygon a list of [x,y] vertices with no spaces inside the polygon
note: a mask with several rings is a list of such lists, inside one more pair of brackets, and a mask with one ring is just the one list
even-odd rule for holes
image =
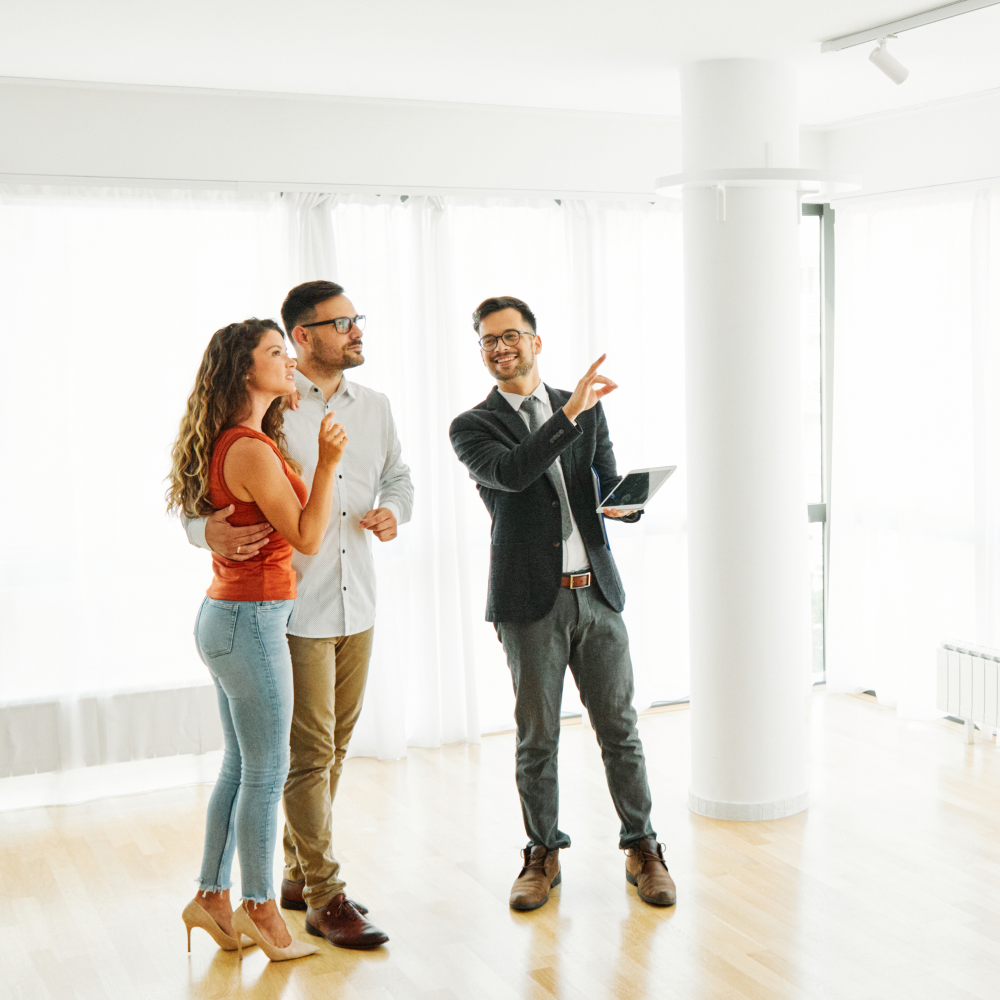
{"label": "white upper wall band above the curtains, both sides of the pillar", "polygon": [[[650,194],[672,118],[0,79],[0,181],[53,177],[387,193]],[[802,131],[860,194],[1000,176],[1000,93]]]}

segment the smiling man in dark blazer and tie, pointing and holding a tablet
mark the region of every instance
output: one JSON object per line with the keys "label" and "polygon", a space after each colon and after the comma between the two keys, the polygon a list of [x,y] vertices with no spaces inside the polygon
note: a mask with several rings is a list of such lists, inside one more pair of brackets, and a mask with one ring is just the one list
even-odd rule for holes
{"label": "smiling man in dark blazer and tie, pointing and holding a tablet", "polygon": [[[451,443],[493,519],[486,619],[514,681],[517,789],[528,834],[510,905],[533,910],[562,878],[557,754],[569,666],[604,759],[621,819],[625,877],[655,906],[676,899],[663,845],[650,824],[646,761],[632,707],[632,661],[622,621],[625,591],[611,555],[601,489],[617,481],[600,399],[617,386],[597,374],[573,392],[543,385],[542,340],[520,299],[487,299],[472,316],[483,364],[498,386],[456,417]],[[609,510],[626,521],[640,513]]]}

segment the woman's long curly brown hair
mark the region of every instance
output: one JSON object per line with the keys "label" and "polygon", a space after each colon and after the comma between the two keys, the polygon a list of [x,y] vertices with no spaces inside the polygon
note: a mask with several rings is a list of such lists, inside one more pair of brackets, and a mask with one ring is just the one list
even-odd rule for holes
{"label": "woman's long curly brown hair", "polygon": [[[223,431],[245,420],[250,412],[247,376],[253,368],[254,349],[268,330],[285,336],[273,319],[256,317],[230,323],[212,334],[170,453],[168,511],[179,511],[185,517],[205,517],[215,512],[208,499],[212,449]],[[288,456],[282,430],[287,405],[287,396],[279,396],[271,403],[261,430],[278,446],[285,461],[300,472],[299,464]]]}

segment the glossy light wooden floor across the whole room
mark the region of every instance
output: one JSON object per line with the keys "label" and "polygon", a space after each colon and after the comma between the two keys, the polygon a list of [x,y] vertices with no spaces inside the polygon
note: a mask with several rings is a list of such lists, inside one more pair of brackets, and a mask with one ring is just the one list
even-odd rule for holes
{"label": "glossy light wooden floor across the whole room", "polygon": [[1000,749],[863,697],[820,691],[810,714],[812,805],[765,823],[692,815],[689,713],[642,718],[670,910],[625,882],[582,726],[562,734],[574,845],[534,913],[507,907],[524,841],[511,735],[349,760],[339,854],[391,940],[281,964],[254,949],[241,966],[197,930],[185,950],[208,788],[0,814],[0,997],[1000,997]]}

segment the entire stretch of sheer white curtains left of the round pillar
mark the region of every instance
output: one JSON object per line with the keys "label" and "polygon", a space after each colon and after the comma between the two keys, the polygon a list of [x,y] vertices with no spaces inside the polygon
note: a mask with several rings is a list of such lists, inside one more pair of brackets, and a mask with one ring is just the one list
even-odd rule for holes
{"label": "entire stretch of sheer white curtains left of the round pillar", "polygon": [[[355,752],[511,725],[483,621],[488,517],[447,436],[492,384],[470,324],[481,299],[532,305],[551,384],[571,387],[606,349],[619,465],[683,470],[679,216],[662,207],[2,188],[0,777],[217,745],[191,640],[210,571],[163,513],[168,450],[211,333],[276,317],[291,285],[318,276],[369,317],[352,374],[392,401],[417,489],[413,521],[376,543]],[[636,704],[683,697],[683,473],[611,538]]]}

